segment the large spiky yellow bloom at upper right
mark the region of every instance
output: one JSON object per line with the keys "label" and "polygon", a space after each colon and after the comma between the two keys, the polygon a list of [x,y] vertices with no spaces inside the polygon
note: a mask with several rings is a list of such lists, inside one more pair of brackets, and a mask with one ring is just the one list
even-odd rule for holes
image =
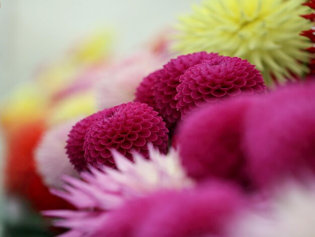
{"label": "large spiky yellow bloom at upper right", "polygon": [[305,0],[205,0],[194,13],[182,17],[175,36],[181,53],[217,52],[248,59],[262,72],[266,83],[271,73],[279,82],[290,71],[301,76],[311,43],[300,36],[311,23],[300,15],[309,13]]}

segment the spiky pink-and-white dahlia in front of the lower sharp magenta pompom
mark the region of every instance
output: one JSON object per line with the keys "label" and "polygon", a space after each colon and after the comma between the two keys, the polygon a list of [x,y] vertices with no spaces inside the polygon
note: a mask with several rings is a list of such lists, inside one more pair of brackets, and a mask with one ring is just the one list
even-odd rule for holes
{"label": "spiky pink-and-white dahlia in front of the lower sharp magenta pompom", "polygon": [[131,162],[117,152],[113,158],[117,169],[106,166],[101,170],[92,168],[91,173],[81,173],[83,180],[64,177],[67,183],[65,191],[53,190],[57,196],[77,207],[77,210],[44,212],[61,218],[55,225],[70,229],[64,236],[93,236],[106,224],[109,213],[127,200],[147,196],[157,190],[181,190],[194,184],[186,176],[174,150],[163,155],[151,149],[150,160],[136,155]]}

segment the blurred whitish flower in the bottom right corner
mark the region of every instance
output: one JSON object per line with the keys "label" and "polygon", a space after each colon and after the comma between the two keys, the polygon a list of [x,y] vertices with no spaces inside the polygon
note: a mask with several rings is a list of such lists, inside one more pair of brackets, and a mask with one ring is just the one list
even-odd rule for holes
{"label": "blurred whitish flower in the bottom right corner", "polygon": [[237,222],[232,236],[315,236],[315,187],[290,183],[285,188],[280,188],[280,191],[280,195],[276,195],[267,205],[267,210],[253,211]]}

